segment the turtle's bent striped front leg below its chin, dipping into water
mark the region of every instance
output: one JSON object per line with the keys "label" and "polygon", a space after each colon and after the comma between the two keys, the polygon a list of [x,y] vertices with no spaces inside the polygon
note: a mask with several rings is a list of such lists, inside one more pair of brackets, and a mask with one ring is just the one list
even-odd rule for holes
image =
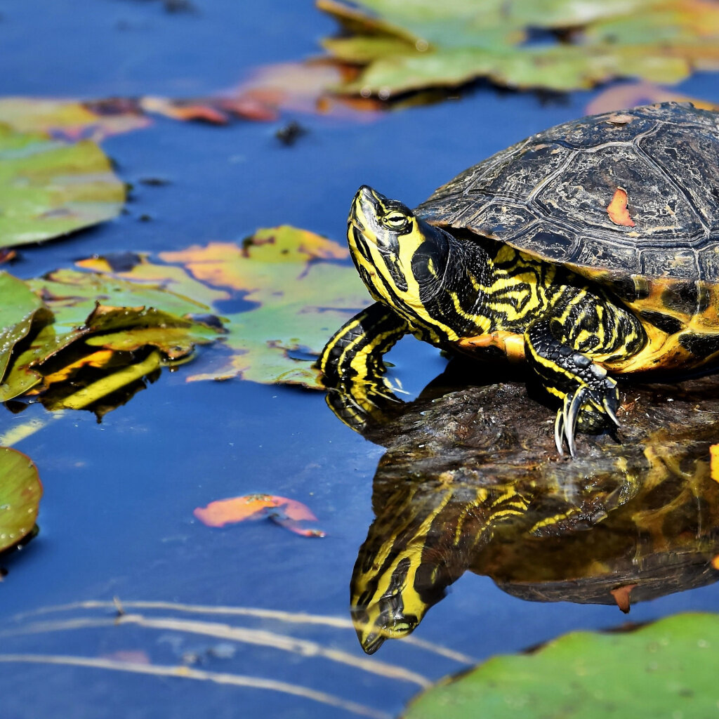
{"label": "turtle's bent striped front leg below its chin, dipping into water", "polygon": [[360,434],[370,418],[401,400],[384,375],[384,355],[410,328],[381,302],[357,313],[329,339],[317,362],[326,400],[337,418]]}

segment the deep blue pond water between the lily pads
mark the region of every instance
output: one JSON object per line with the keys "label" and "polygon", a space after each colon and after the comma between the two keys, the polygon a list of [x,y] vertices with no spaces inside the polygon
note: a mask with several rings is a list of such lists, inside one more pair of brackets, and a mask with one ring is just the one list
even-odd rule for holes
{"label": "deep blue pond water between the lily pads", "polygon": [[[0,0],[0,96],[209,93],[258,65],[313,55],[334,27],[308,0],[195,0],[195,6],[196,12],[168,13],[160,1],[98,0],[78,12],[70,0]],[[682,91],[719,99],[714,75],[692,78]],[[573,93],[542,103],[530,93],[480,88],[372,122],[297,116],[308,133],[293,147],[274,136],[291,114],[229,127],[157,119],[150,129],[103,143],[119,175],[133,183],[127,214],[23,248],[11,270],[31,277],[95,253],[239,241],[258,227],[285,223],[342,241],[360,184],[414,206],[468,165],[582,115],[591,97]],[[139,182],[148,177],[168,183]],[[140,221],[145,214],[152,220]],[[411,395],[444,367],[434,349],[413,339],[403,340],[391,360]],[[45,420],[47,413],[40,405],[6,412],[0,430],[30,418]],[[337,421],[320,393],[239,380],[186,383],[180,367],[162,372],[101,423],[91,413],[68,411],[17,449],[36,462],[45,496],[40,535],[3,561],[9,572],[0,584],[0,635],[9,631],[3,653],[134,657],[142,664],[144,652],[155,664],[274,679],[391,716],[418,692],[421,677],[464,669],[460,655],[479,661],[625,620],[615,606],[525,602],[467,573],[413,634],[456,656],[389,641],[366,657],[342,623],[134,607],[155,601],[349,618],[349,581],[374,518],[372,477],[384,449]],[[326,537],[305,539],[266,521],[213,530],[193,517],[211,500],[250,493],[306,503]],[[144,619],[114,626],[113,597]],[[109,604],[76,605],[88,600]],[[58,605],[75,606],[37,614]],[[639,603],[630,618],[718,608],[719,585],[710,585]],[[257,634],[228,641],[160,621],[168,617],[316,644],[284,651]],[[73,619],[75,626],[58,625]],[[31,625],[35,633],[17,632]],[[341,654],[328,656],[330,650]],[[2,667],[0,696],[2,719],[352,715],[277,687],[20,662]]]}

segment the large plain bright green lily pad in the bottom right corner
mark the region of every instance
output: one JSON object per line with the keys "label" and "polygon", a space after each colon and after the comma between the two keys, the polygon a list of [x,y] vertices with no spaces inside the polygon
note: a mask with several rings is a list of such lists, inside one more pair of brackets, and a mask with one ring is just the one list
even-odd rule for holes
{"label": "large plain bright green lily pad in the bottom right corner", "polygon": [[718,648],[715,614],[680,614],[621,633],[573,632],[440,682],[403,717],[710,717]]}

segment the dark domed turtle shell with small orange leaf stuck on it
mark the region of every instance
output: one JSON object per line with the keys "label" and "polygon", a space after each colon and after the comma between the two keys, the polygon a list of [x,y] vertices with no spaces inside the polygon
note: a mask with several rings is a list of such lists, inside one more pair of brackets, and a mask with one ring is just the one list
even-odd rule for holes
{"label": "dark domed turtle shell with small orange leaf stuck on it", "polygon": [[568,265],[630,304],[696,315],[719,284],[719,114],[667,103],[557,125],[417,213]]}

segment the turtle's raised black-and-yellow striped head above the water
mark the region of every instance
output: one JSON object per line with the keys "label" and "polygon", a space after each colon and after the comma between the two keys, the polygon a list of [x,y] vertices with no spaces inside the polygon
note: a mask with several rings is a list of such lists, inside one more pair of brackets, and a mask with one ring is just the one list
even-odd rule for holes
{"label": "turtle's raised black-and-yellow striped head above the water", "polygon": [[410,321],[426,319],[426,303],[441,292],[451,239],[367,185],[354,196],[347,221],[352,260],[372,297]]}

